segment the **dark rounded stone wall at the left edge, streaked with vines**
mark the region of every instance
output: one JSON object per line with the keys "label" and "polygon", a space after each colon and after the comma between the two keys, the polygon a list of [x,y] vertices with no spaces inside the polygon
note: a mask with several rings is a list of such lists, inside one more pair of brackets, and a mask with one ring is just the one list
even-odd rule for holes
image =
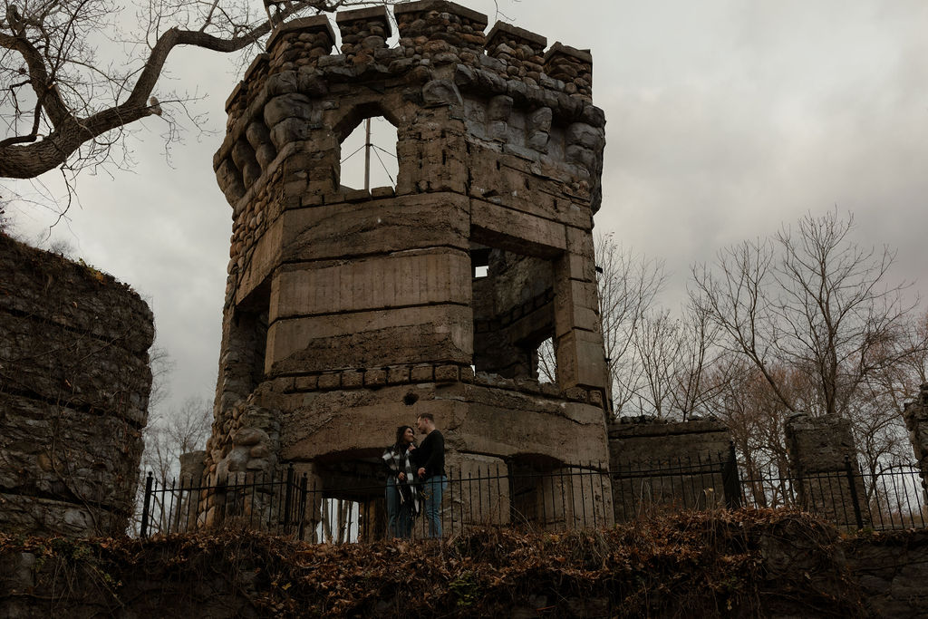
{"label": "dark rounded stone wall at the left edge, streaked with vines", "polygon": [[134,290],[0,234],[0,530],[125,531],[153,337]]}

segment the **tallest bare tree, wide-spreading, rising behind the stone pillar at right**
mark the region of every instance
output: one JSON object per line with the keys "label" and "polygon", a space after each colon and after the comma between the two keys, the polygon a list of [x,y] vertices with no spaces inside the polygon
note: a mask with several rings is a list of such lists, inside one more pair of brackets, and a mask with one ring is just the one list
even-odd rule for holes
{"label": "tallest bare tree, wide-spreading, rising behind the stone pillar at right", "polygon": [[[746,355],[791,411],[848,416],[860,386],[910,350],[899,342],[914,303],[887,283],[896,254],[850,239],[853,218],[806,215],[795,231],[719,253],[693,270],[694,303]],[[916,342],[915,347],[923,347]],[[808,389],[790,393],[773,368],[790,368]]]}

